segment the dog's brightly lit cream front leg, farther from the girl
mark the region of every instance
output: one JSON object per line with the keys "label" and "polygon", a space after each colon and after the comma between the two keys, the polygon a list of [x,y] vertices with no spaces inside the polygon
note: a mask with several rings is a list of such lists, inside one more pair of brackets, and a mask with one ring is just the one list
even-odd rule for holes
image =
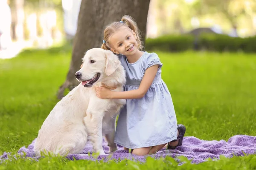
{"label": "dog's brightly lit cream front leg, farther from the girl", "polygon": [[93,150],[100,155],[105,155],[102,147],[102,116],[97,116],[97,113],[87,112],[84,122],[89,133],[89,140],[93,144]]}

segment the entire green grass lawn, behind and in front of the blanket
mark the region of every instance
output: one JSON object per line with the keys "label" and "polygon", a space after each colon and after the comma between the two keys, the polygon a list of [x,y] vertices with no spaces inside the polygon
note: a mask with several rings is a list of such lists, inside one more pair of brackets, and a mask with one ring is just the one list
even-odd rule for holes
{"label": "entire green grass lawn, behind and in front of the blanket", "polygon": [[[58,101],[55,94],[66,78],[71,59],[69,50],[58,51],[26,51],[16,58],[0,60],[0,155],[27,147]],[[163,62],[162,78],[172,94],[177,121],[187,127],[186,136],[204,140],[227,140],[238,134],[256,136],[256,58],[252,54],[157,54]],[[148,159],[139,164],[125,160],[117,164],[47,157],[40,161],[14,159],[0,164],[0,170],[212,169],[213,165],[225,170],[256,168],[255,155],[198,165],[188,161],[177,166],[171,158],[165,161]]]}

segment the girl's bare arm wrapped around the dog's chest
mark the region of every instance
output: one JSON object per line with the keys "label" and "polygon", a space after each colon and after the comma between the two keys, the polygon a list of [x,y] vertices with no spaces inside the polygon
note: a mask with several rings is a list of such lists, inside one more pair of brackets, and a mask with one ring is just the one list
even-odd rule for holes
{"label": "girl's bare arm wrapped around the dog's chest", "polygon": [[146,69],[140,87],[131,91],[111,91],[106,87],[96,88],[96,95],[102,99],[140,99],[148,91],[158,70],[158,65],[153,65]]}

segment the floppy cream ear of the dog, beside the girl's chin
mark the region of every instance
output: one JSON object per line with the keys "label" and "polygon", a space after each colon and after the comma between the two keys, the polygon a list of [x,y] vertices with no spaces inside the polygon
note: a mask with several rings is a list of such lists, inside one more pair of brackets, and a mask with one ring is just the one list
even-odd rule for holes
{"label": "floppy cream ear of the dog, beside the girl's chin", "polygon": [[105,58],[106,58],[105,74],[107,74],[107,76],[109,76],[109,75],[113,74],[113,72],[115,72],[116,69],[119,67],[119,59],[110,50],[105,51]]}

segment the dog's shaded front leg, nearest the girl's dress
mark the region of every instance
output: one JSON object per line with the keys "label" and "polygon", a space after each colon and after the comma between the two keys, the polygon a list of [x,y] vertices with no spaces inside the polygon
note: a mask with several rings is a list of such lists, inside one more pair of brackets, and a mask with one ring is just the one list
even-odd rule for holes
{"label": "dog's shaded front leg, nearest the girl's dress", "polygon": [[116,133],[116,119],[111,119],[109,122],[110,133],[105,135],[106,140],[108,141],[108,146],[110,148],[110,153],[113,153],[117,150],[117,145],[114,143],[115,133]]}

